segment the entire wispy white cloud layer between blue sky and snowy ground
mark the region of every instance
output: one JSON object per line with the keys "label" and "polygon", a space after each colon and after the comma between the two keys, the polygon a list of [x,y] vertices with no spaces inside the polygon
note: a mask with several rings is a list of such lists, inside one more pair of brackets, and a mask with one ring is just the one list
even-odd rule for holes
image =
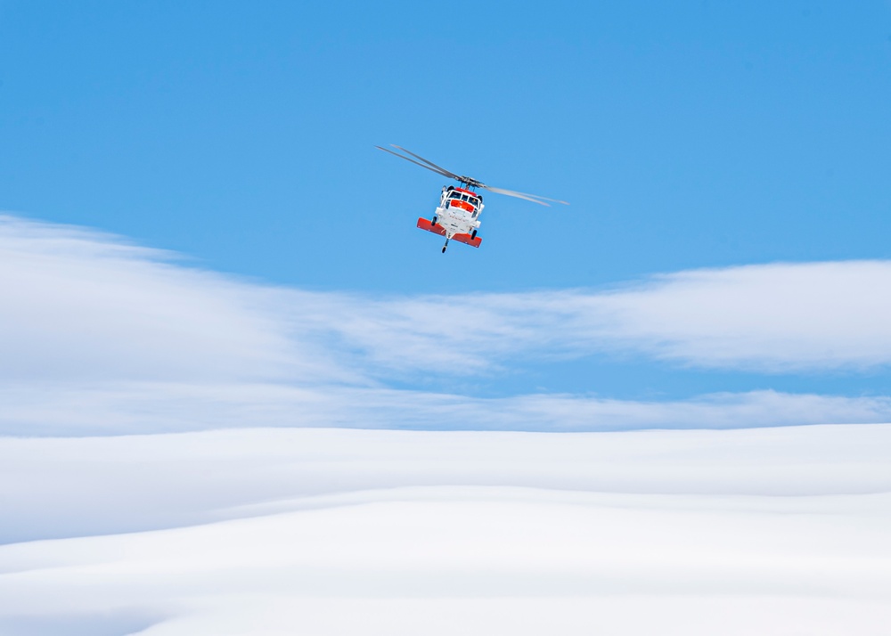
{"label": "entire wispy white cloud layer between blue sky and snowy ground", "polygon": [[[0,427],[609,430],[891,420],[883,397],[772,391],[627,402],[396,390],[521,359],[633,351],[764,371],[891,362],[885,262],[677,273],[624,288],[370,298],[201,271],[116,237],[0,220]],[[817,317],[819,316],[819,320]]]}

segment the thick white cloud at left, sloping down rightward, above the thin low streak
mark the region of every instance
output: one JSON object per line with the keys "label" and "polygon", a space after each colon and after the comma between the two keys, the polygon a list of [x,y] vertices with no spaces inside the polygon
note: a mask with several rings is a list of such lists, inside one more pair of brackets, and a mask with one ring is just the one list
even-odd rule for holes
{"label": "thick white cloud at left, sloping down rightward, above the thin low streak", "polygon": [[[0,378],[339,378],[274,289],[59,225],[0,217]],[[307,350],[308,349],[308,350]]]}

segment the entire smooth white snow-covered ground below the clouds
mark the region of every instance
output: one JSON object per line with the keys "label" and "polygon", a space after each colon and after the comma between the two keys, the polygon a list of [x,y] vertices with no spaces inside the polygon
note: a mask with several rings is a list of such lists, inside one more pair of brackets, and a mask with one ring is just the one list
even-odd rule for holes
{"label": "entire smooth white snow-covered ground below the clouds", "polygon": [[0,438],[0,633],[887,634],[891,425]]}

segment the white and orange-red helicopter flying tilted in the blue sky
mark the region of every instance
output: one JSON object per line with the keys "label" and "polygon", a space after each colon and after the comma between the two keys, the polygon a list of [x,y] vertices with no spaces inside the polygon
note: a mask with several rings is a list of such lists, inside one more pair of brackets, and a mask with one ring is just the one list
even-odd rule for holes
{"label": "white and orange-red helicopter flying tilted in the blue sky", "polygon": [[446,237],[446,244],[443,246],[443,254],[446,253],[448,241],[452,241],[453,239],[474,248],[478,248],[479,244],[483,241],[477,236],[477,231],[479,229],[479,215],[482,213],[484,207],[483,198],[477,192],[473,192],[471,188],[481,188],[489,192],[495,192],[496,194],[506,194],[509,197],[525,199],[541,206],[550,207],[550,204],[546,201],[562,203],[565,206],[569,205],[566,201],[548,199],[547,197],[540,197],[537,194],[526,194],[524,192],[504,190],[503,188],[494,188],[491,185],[486,185],[486,183],[482,183],[470,176],[455,175],[454,172],[449,172],[446,168],[439,167],[432,161],[424,159],[421,155],[416,155],[412,151],[405,150],[402,146],[397,146],[395,143],[391,143],[390,145],[393,148],[410,154],[415,159],[420,159],[420,161],[415,161],[414,159],[405,157],[404,155],[388,150],[387,148],[381,148],[380,146],[375,146],[375,148],[384,152],[389,152],[391,155],[396,155],[399,159],[411,161],[415,166],[426,167],[428,170],[437,173],[437,175],[447,176],[464,186],[462,188],[456,188],[454,185],[449,185],[447,187],[444,185],[442,193],[439,195],[439,207],[434,213],[433,218],[429,221],[424,217],[418,219],[418,227],[420,227],[421,230],[427,230],[428,232],[433,232]]}

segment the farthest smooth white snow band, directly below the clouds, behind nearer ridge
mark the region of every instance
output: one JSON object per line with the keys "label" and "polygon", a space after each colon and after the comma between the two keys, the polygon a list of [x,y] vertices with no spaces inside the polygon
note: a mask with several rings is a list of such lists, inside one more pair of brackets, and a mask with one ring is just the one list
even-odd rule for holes
{"label": "farthest smooth white snow band, directly below the clouds, behind nearer ridge", "polygon": [[889,443],[891,425],[609,433],[241,428],[0,437],[0,542],[340,506],[362,501],[365,494],[355,499],[356,493],[380,491],[372,499],[387,499],[389,489],[421,486],[887,493]]}

